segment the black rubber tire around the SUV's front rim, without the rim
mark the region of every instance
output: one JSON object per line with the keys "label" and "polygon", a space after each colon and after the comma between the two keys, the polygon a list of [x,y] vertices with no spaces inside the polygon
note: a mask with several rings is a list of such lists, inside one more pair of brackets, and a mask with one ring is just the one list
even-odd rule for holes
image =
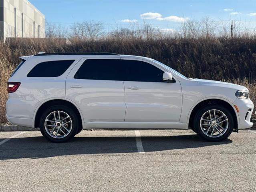
{"label": "black rubber tire around the SUV's front rim, without the rim", "polygon": [[[221,112],[223,112],[226,115],[226,118],[228,119],[228,127],[226,129],[226,132],[224,132],[224,134],[220,134],[220,136],[218,137],[210,137],[208,135],[206,135],[203,130],[200,127],[200,120],[202,118],[202,116],[208,111],[208,110],[220,110]],[[217,118],[218,119],[218,118]],[[212,122],[211,122],[212,123]],[[220,106],[218,104],[211,104],[211,105],[207,105],[207,106],[203,106],[202,108],[200,108],[195,116],[194,119],[194,128],[195,128],[195,132],[204,140],[206,141],[210,141],[210,142],[218,142],[218,141],[222,141],[226,138],[228,138],[228,136],[230,136],[230,134],[232,133],[232,130],[234,128],[234,118],[231,114],[231,112],[224,106]],[[211,129],[212,130],[212,129]],[[216,130],[215,130],[216,131]],[[218,133],[217,133],[218,134]]]}

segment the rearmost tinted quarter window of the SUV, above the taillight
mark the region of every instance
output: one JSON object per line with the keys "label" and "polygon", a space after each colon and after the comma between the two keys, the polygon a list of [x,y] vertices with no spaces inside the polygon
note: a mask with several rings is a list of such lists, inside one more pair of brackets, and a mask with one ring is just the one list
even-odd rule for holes
{"label": "rearmost tinted quarter window of the SUV, above the taillight", "polygon": [[58,77],[62,75],[75,60],[47,61],[34,66],[27,77]]}

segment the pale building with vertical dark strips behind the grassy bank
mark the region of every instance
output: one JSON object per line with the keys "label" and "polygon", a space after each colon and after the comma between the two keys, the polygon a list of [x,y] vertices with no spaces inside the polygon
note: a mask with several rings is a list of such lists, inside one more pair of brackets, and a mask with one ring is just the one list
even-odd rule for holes
{"label": "pale building with vertical dark strips behind the grassy bank", "polygon": [[0,38],[44,38],[44,15],[28,0],[0,0]]}

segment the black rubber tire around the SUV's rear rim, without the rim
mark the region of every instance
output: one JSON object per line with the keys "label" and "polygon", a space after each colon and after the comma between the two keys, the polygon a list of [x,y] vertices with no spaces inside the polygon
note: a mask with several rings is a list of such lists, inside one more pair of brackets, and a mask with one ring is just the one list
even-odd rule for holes
{"label": "black rubber tire around the SUV's rear rim, without the rim", "polygon": [[[53,138],[46,132],[46,129],[44,128],[44,121],[46,120],[46,117],[48,116],[48,114],[52,113],[53,111],[58,111],[58,110],[67,113],[72,120],[72,128],[71,128],[69,134],[67,134],[67,136],[65,136],[64,138]],[[42,135],[44,136],[44,138],[46,138],[47,140],[49,140],[51,142],[60,143],[60,142],[69,141],[71,138],[73,138],[77,134],[78,125],[79,125],[78,122],[79,121],[77,118],[77,114],[71,108],[69,108],[67,106],[63,106],[63,105],[55,105],[55,106],[50,106],[49,108],[44,110],[44,112],[42,113],[42,115],[40,117],[39,127],[40,127],[40,131],[41,131]]]}

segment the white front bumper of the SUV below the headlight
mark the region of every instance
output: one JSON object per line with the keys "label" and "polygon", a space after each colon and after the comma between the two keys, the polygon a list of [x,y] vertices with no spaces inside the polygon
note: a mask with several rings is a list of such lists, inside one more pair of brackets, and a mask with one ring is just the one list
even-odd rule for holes
{"label": "white front bumper of the SUV below the headlight", "polygon": [[254,104],[248,99],[236,99],[233,103],[236,105],[239,109],[238,117],[239,117],[239,123],[238,123],[238,129],[247,129],[253,126],[253,122],[250,122]]}

